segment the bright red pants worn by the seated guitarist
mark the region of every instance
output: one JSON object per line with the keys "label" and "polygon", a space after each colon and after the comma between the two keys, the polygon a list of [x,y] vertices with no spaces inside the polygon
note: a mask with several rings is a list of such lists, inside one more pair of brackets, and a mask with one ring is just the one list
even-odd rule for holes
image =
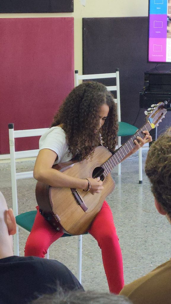
{"label": "bright red pants worn by the seated guitarist", "polygon": [[[112,212],[106,201],[88,232],[97,240],[101,248],[109,290],[118,294],[124,286],[122,254]],[[25,256],[44,257],[50,245],[62,235],[63,232],[54,230],[38,210],[26,242]]]}

